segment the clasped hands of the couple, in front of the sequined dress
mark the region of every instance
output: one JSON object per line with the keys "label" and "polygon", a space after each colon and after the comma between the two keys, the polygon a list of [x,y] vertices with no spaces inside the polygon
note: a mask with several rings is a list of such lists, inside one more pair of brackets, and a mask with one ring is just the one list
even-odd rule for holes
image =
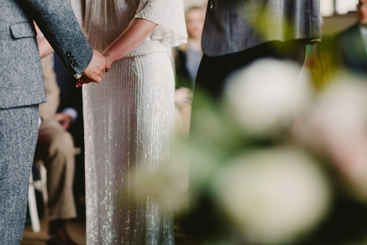
{"label": "clasped hands of the couple, in front of the sequined dress", "polygon": [[93,50],[93,57],[87,68],[81,73],[81,76],[76,84],[77,87],[84,83],[100,83],[105,72],[111,68],[112,60],[106,58],[97,50]]}

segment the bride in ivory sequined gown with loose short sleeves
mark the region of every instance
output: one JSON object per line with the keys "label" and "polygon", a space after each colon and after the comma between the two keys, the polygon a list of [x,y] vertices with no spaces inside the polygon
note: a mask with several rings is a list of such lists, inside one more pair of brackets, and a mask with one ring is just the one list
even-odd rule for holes
{"label": "bride in ivory sequined gown with loose short sleeves", "polygon": [[134,191],[172,150],[170,50],[186,42],[182,0],[71,3],[91,46],[112,62],[100,84],[83,85],[87,245],[173,245],[172,208],[121,189]]}

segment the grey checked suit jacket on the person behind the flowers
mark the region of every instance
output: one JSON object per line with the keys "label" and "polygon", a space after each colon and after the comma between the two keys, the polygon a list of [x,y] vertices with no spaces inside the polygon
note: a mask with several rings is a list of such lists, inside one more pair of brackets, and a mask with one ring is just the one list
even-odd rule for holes
{"label": "grey checked suit jacket on the person behind the flowers", "polygon": [[201,45],[215,57],[272,40],[320,38],[319,0],[209,0]]}

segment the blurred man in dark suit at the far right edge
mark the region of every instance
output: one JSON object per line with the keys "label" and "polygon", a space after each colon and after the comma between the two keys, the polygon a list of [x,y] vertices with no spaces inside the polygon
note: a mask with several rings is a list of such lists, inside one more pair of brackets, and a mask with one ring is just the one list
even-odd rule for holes
{"label": "blurred man in dark suit at the far right edge", "polygon": [[367,75],[367,0],[357,4],[357,23],[342,31],[333,40],[337,65],[359,75]]}

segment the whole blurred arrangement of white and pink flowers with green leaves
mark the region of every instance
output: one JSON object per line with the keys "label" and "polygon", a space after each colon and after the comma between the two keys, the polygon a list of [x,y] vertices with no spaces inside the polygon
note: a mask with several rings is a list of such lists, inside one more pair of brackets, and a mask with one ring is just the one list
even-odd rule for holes
{"label": "whole blurred arrangement of white and pink flowers with green leaves", "polygon": [[[189,201],[175,211],[196,244],[367,245],[367,83],[319,71],[259,60],[219,101],[195,91],[174,161],[190,161]],[[172,199],[170,174],[137,193]]]}

